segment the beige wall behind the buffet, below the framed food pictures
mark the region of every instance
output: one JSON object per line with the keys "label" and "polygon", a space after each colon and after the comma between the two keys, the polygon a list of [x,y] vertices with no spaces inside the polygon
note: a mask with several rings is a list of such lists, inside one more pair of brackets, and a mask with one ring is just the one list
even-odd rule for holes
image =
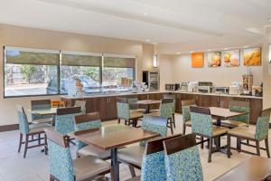
{"label": "beige wall behind the buffet, below the framed food pictures", "polygon": [[[241,53],[242,54],[242,53]],[[242,60],[242,57],[241,57]],[[192,68],[190,53],[173,55],[173,82],[182,81],[212,81],[215,86],[229,86],[232,81],[242,82],[242,75],[246,67],[240,63],[238,67],[208,67],[205,53],[203,68]],[[251,67],[254,76],[254,84],[259,85],[263,81],[263,67]]]}

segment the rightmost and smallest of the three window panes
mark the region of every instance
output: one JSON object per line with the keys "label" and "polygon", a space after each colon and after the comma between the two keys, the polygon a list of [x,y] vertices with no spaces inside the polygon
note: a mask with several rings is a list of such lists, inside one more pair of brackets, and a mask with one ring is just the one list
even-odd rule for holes
{"label": "rightmost and smallest of the three window panes", "polygon": [[104,87],[130,90],[135,80],[135,58],[106,55],[102,80]]}

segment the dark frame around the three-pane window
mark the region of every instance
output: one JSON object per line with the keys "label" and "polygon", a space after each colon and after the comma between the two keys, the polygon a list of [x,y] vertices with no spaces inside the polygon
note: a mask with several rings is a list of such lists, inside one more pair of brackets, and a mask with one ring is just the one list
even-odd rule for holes
{"label": "dark frame around the three-pane window", "polygon": [[[5,95],[5,62],[6,62],[6,48],[7,47],[12,47],[12,48],[19,48],[19,49],[28,49],[28,50],[44,50],[44,52],[48,52],[48,51],[56,51],[58,52],[57,54],[59,55],[58,57],[58,61],[57,64],[55,66],[57,66],[57,79],[58,79],[58,87],[57,87],[57,93],[54,94],[32,94],[32,95],[15,95],[15,96],[6,96]],[[16,47],[16,46],[8,46],[8,45],[4,45],[3,46],[3,96],[4,99],[9,99],[9,98],[27,98],[27,97],[46,97],[46,96],[57,96],[57,95],[67,95],[67,93],[61,93],[61,56],[62,53],[67,53],[67,52],[72,52],[72,51],[61,51],[61,50],[52,50],[52,49],[42,49],[42,48],[29,48],[29,47]],[[34,51],[33,51],[34,52]],[[72,52],[73,53],[73,52]],[[76,52],[74,52],[76,53]],[[135,67],[133,67],[133,81],[135,81],[135,77],[136,77],[136,65],[137,65],[137,57],[136,56],[130,56],[130,55],[122,55],[122,54],[107,54],[107,53],[95,53],[95,52],[79,52],[79,53],[85,53],[85,54],[93,54],[93,55],[101,55],[101,65],[98,66],[99,67],[99,83],[102,84],[103,83],[103,69],[104,69],[104,58],[106,56],[115,56],[115,57],[120,57],[120,58],[134,58],[135,59]]]}

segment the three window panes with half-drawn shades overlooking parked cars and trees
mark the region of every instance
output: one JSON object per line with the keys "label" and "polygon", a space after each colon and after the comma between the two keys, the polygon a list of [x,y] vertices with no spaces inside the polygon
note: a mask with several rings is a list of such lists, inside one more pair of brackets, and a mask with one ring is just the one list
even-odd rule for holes
{"label": "three window panes with half-drawn shades overlooking parked cars and trees", "polygon": [[102,88],[128,90],[134,81],[135,67],[126,67],[123,58],[120,61],[114,58],[111,65],[102,67],[101,55],[62,54],[61,57],[59,74],[59,51],[6,48],[5,97],[66,94],[75,75],[87,93]]}

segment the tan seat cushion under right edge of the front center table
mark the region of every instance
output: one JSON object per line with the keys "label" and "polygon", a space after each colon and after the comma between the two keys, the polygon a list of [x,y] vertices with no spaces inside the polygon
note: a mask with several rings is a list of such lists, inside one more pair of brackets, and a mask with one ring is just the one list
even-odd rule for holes
{"label": "tan seat cushion under right edge of the front center table", "polygon": [[122,148],[118,150],[117,157],[121,161],[131,163],[137,167],[141,167],[142,158],[145,152],[145,147],[132,146],[128,148]]}

